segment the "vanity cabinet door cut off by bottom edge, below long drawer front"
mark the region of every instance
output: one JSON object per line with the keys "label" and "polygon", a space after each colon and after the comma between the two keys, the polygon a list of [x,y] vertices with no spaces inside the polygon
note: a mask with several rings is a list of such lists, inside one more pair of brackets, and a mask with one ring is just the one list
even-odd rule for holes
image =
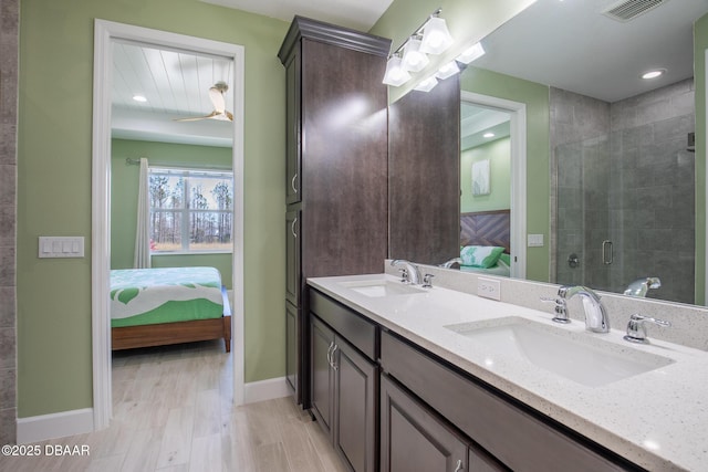
{"label": "vanity cabinet door cut off by bottom edge, below long drawer front", "polygon": [[467,471],[465,440],[423,403],[381,376],[381,471]]}

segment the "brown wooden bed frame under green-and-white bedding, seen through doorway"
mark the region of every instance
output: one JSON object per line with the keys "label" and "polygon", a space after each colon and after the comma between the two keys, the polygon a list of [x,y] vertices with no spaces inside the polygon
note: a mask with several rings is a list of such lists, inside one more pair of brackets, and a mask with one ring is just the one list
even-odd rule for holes
{"label": "brown wooden bed frame under green-and-white bedding, seen through doorway", "polygon": [[223,338],[226,352],[230,353],[231,308],[223,289],[221,296],[223,298],[223,316],[220,318],[113,327],[111,328],[111,349],[133,349]]}

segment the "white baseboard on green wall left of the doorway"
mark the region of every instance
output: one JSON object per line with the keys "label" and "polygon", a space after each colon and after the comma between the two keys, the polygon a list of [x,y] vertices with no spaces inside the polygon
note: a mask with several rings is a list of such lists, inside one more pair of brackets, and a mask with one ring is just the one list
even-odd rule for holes
{"label": "white baseboard on green wall left of the doorway", "polygon": [[93,408],[18,418],[18,444],[93,431]]}

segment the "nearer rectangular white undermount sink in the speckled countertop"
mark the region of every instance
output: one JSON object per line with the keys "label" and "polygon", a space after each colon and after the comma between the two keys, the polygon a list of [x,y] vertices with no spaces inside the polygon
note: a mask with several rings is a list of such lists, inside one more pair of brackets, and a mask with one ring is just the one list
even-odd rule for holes
{"label": "nearer rectangular white undermount sink in the speckled countertop", "polygon": [[601,387],[665,367],[671,359],[602,340],[527,318],[510,316],[493,321],[449,325],[473,342],[491,365],[497,359],[528,361],[568,380]]}

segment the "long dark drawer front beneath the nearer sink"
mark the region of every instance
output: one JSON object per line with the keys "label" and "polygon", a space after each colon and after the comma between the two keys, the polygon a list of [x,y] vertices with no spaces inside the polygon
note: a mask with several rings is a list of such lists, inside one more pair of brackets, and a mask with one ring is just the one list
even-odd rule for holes
{"label": "long dark drawer front beneath the nearer sink", "polygon": [[514,471],[642,470],[387,332],[381,335],[381,364],[385,373]]}

